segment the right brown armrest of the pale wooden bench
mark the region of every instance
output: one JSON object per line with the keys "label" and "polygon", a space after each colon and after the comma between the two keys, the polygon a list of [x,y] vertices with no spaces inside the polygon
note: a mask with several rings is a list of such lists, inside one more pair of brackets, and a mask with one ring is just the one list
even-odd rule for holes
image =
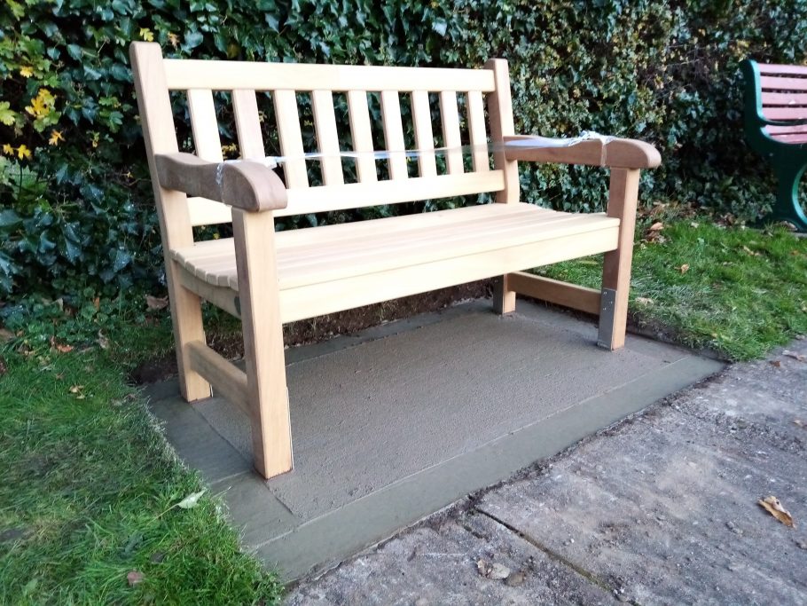
{"label": "right brown armrest of the pale wooden bench", "polygon": [[[504,140],[506,160],[587,164],[612,169],[654,169],[662,163],[662,156],[654,146],[636,139],[592,138],[570,146],[542,145],[542,138],[529,135],[513,135]],[[530,145],[530,141],[535,145]]]}

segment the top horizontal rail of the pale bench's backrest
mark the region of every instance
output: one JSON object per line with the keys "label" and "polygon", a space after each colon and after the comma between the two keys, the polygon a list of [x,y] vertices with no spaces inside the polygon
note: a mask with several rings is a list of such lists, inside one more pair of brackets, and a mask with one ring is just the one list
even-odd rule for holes
{"label": "top horizontal rail of the pale bench's backrest", "polygon": [[245,63],[200,59],[165,59],[168,89],[184,91],[474,91],[495,90],[493,75],[482,69],[443,67],[334,66],[301,63]]}

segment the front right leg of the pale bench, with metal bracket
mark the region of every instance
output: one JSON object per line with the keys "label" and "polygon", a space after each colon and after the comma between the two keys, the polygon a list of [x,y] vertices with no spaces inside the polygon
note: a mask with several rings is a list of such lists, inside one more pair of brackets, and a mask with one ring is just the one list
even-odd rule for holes
{"label": "front right leg of the pale bench, with metal bracket", "polygon": [[602,265],[597,336],[597,344],[608,350],[618,350],[625,344],[638,197],[639,170],[613,169],[607,214],[620,219],[619,240],[616,250],[606,253]]}

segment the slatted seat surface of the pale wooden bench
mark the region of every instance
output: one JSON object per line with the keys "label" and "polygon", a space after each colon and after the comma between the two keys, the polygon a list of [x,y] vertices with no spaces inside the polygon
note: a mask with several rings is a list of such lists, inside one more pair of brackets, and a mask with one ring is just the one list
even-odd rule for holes
{"label": "slatted seat surface of the pale wooden bench", "polygon": [[[504,248],[527,246],[572,234],[615,230],[619,220],[602,214],[574,215],[538,209],[528,204],[467,207],[423,215],[391,217],[363,224],[336,224],[278,232],[278,272],[281,290],[439,259],[472,256]],[[492,211],[492,212],[491,212]],[[356,228],[363,230],[357,236]],[[322,236],[322,237],[317,237]],[[435,240],[439,238],[439,248]],[[352,241],[346,248],[345,241]],[[586,238],[579,239],[581,246]],[[213,250],[215,249],[215,250]],[[238,288],[231,240],[200,242],[174,252],[194,275],[215,286]],[[202,278],[204,276],[204,278]]]}

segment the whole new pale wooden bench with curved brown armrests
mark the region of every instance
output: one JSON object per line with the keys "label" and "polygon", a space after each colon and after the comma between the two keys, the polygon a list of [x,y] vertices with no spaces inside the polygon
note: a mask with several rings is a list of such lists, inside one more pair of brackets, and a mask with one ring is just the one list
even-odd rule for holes
{"label": "whole new pale wooden bench with curved brown armrests", "polygon": [[[498,277],[499,313],[513,311],[517,292],[540,297],[599,314],[599,343],[623,346],[639,169],[660,163],[653,146],[593,138],[546,147],[514,136],[502,59],[472,70],[163,59],[155,43],[133,43],[130,54],[182,395],[209,397],[212,384],[239,405],[252,421],[255,468],[263,476],[293,465],[284,322]],[[195,154],[178,152],[171,91],[187,98]],[[215,91],[230,95],[242,161],[223,162]],[[301,95],[313,106],[323,154],[317,161],[304,155]],[[430,95],[439,99],[431,104],[439,107],[444,170],[436,161]],[[347,101],[349,123],[336,120],[336,96]],[[380,99],[380,126],[372,124],[368,97]],[[275,124],[262,124],[270,112],[261,113],[259,101],[268,98]],[[419,150],[411,176],[409,120],[410,145]],[[278,133],[285,183],[266,166],[262,127]],[[377,139],[383,132],[384,160],[372,153],[373,128]],[[341,164],[346,133],[358,152],[355,183],[346,182]],[[610,167],[607,214],[520,203],[517,161]],[[316,163],[322,185],[315,186],[309,165]],[[496,203],[275,232],[278,216],[479,193],[495,193]],[[231,239],[194,241],[193,226],[222,222],[232,223]],[[520,272],[597,253],[606,254],[601,291]],[[241,319],[246,373],[205,344],[202,299]]]}

